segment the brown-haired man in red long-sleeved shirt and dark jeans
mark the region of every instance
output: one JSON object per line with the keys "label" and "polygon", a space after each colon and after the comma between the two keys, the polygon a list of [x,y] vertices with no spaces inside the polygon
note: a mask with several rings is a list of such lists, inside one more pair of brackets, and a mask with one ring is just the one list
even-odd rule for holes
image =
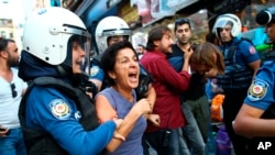
{"label": "brown-haired man in red long-sleeved shirt and dark jeans", "polygon": [[160,114],[161,124],[156,126],[148,122],[145,139],[158,155],[184,154],[180,128],[186,124],[186,118],[180,109],[180,91],[188,88],[189,58],[193,49],[185,54],[182,70],[169,65],[166,54],[172,53],[172,32],[166,26],[156,26],[148,32],[147,52],[141,58],[141,64],[153,77],[156,91],[154,114]]}

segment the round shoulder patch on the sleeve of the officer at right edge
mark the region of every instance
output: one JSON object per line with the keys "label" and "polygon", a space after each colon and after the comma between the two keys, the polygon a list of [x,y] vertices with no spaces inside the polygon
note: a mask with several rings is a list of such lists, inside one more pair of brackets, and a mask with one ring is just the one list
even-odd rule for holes
{"label": "round shoulder patch on the sleeve of the officer at right edge", "polygon": [[263,99],[267,91],[267,82],[264,80],[256,79],[252,82],[249,88],[248,98],[251,101],[258,101]]}

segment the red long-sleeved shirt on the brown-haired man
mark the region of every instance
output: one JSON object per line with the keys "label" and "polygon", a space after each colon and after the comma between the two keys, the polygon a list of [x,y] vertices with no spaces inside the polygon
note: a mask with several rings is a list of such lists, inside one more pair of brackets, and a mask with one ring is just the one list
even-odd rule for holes
{"label": "red long-sleeved shirt on the brown-haired man", "polygon": [[[142,66],[151,73],[153,87],[156,91],[156,102],[153,113],[161,117],[161,129],[176,129],[184,126],[186,120],[180,108],[179,93],[188,88],[190,75],[187,71],[176,73],[162,52],[146,52],[140,60]],[[160,128],[147,124],[146,132]]]}

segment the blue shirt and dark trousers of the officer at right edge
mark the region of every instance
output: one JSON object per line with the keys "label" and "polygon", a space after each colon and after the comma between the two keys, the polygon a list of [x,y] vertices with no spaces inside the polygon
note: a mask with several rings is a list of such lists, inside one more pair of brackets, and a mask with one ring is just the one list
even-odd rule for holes
{"label": "blue shirt and dark trousers of the officer at right edge", "polygon": [[[274,103],[274,84],[275,84],[275,62],[267,60],[258,69],[253,82],[248,90],[248,97],[244,103],[256,109],[264,111],[262,119],[275,118],[275,103]],[[275,144],[275,137],[253,137],[250,142],[251,153],[274,154],[275,147],[271,146],[268,150],[258,150],[261,143],[268,142]]]}

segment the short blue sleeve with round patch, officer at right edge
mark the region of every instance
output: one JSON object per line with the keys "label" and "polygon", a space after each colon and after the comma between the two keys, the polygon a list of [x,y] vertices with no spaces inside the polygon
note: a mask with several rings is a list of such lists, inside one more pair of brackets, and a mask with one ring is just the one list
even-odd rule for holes
{"label": "short blue sleeve with round patch, officer at right edge", "polygon": [[264,65],[248,90],[244,102],[251,107],[266,110],[274,102],[275,65]]}

